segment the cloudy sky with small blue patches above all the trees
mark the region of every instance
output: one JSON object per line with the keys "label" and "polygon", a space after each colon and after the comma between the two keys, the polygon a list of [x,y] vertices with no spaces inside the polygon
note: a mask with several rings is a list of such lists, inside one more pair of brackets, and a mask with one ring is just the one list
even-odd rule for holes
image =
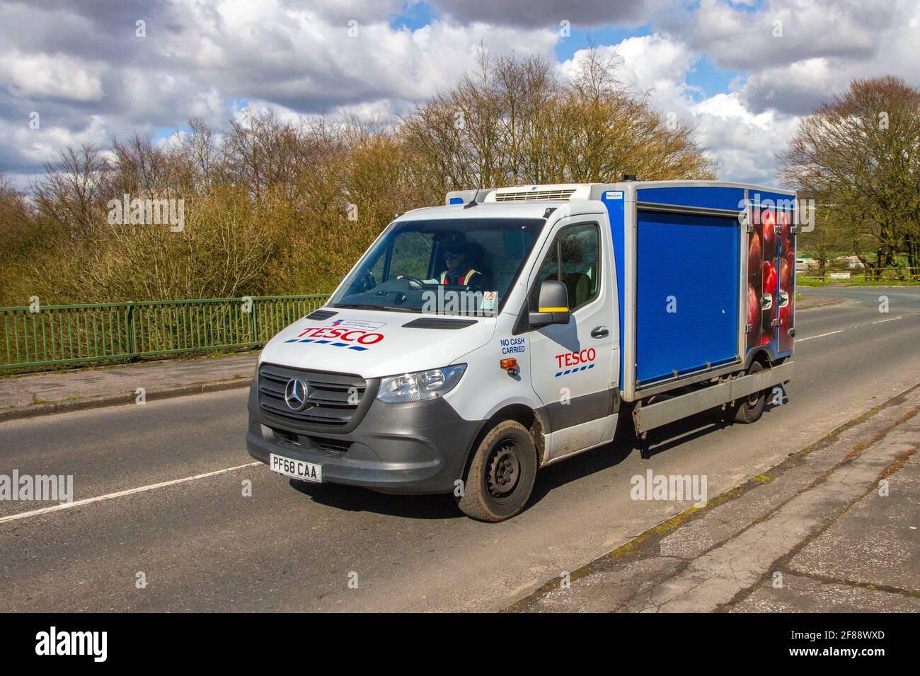
{"label": "cloudy sky with small blue patches above all the trees", "polygon": [[0,170],[24,186],[64,143],[169,143],[247,106],[392,120],[479,45],[564,77],[592,43],[695,125],[720,178],[773,184],[801,116],[851,79],[920,84],[918,34],[915,0],[0,0]]}

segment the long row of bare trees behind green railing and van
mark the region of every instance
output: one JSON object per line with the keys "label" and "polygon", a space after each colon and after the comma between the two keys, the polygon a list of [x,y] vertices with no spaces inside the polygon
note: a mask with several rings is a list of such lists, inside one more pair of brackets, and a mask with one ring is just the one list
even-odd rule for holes
{"label": "long row of bare trees behind green railing and van", "polygon": [[[598,54],[571,81],[539,58],[479,57],[393,123],[248,109],[220,134],[190,120],[170,143],[64,148],[31,202],[0,190],[0,221],[12,213],[27,233],[13,238],[26,244],[6,257],[2,291],[60,302],[328,292],[396,212],[446,189],[711,176],[692,129],[664,124]],[[183,200],[184,230],[108,223],[124,193]]]}

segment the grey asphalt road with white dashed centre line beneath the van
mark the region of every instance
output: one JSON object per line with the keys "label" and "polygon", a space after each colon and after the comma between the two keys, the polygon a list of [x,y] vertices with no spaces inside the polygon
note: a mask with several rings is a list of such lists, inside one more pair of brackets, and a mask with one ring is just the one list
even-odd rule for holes
{"label": "grey asphalt road with white dashed centre line beneath the van", "polygon": [[503,608],[689,506],[632,500],[631,476],[707,475],[711,498],[920,382],[920,289],[803,293],[845,303],[799,313],[788,404],[753,426],[697,418],[645,457],[608,445],[549,467],[500,524],[250,464],[244,390],[6,422],[0,474],[74,475],[76,500],[141,490],[0,502],[0,611]]}

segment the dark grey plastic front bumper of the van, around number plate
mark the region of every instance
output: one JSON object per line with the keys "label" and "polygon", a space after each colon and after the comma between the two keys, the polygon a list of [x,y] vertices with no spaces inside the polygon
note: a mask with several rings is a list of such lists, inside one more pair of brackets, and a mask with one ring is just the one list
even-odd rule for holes
{"label": "dark grey plastic front bumper of the van, around number plate", "polygon": [[263,424],[256,382],[249,387],[249,454],[323,465],[323,479],[384,493],[450,493],[462,478],[482,421],[460,418],[442,398],[408,404],[374,400],[355,430],[309,432]]}

